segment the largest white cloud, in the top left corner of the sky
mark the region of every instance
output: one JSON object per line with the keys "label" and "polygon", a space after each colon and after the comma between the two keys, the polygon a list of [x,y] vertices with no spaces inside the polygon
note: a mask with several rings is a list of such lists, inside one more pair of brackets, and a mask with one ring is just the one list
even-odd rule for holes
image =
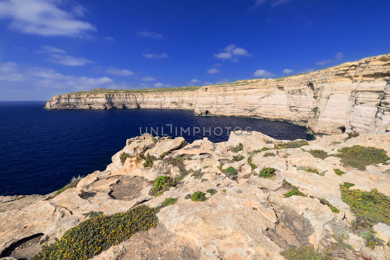
{"label": "largest white cloud, in the top left corner of the sky", "polygon": [[[9,19],[9,28],[23,33],[44,36],[82,36],[95,32],[96,26],[75,19],[81,8],[67,12],[58,7],[62,1],[52,0],[4,0],[0,2],[0,19]],[[75,9],[73,9],[75,10]]]}

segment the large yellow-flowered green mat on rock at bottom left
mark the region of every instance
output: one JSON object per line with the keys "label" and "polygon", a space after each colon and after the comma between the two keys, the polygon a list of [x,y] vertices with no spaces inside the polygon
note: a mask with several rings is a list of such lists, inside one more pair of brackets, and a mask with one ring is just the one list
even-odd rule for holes
{"label": "large yellow-flowered green mat on rock at bottom left", "polygon": [[128,240],[137,232],[155,227],[159,208],[138,206],[125,213],[99,215],[84,220],[50,246],[43,246],[42,252],[33,260],[78,260],[88,259],[107,250],[110,246]]}

